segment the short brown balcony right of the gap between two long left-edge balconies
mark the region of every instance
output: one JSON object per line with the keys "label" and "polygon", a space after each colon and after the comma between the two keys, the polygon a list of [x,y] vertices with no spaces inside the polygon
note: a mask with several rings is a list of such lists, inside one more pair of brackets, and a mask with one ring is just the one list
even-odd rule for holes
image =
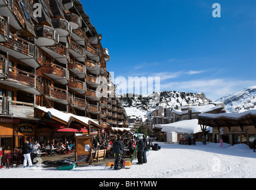
{"label": "short brown balcony right of the gap between two long left-edge balconies", "polygon": [[42,67],[39,68],[42,75],[50,77],[61,84],[69,83],[69,71],[57,64],[42,63]]}

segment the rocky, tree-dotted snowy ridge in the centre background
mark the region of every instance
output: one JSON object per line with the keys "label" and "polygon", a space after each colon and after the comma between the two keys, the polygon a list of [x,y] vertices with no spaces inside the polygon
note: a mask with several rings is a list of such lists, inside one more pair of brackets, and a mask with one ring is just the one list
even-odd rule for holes
{"label": "rocky, tree-dotted snowy ridge in the centre background", "polygon": [[[125,94],[126,97],[119,96],[122,105],[127,111],[127,115],[141,116],[148,111],[154,110],[158,106],[178,109],[181,106],[208,104],[211,100],[205,97],[203,93],[185,93],[180,91],[158,91],[148,96]],[[132,95],[132,96],[131,96]]]}

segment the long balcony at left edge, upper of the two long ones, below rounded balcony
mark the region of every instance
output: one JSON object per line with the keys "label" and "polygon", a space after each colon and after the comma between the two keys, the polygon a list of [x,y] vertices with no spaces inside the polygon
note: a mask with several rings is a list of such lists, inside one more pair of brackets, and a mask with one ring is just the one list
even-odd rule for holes
{"label": "long balcony at left edge, upper of the two long ones, below rounded balcony", "polygon": [[9,55],[33,68],[41,66],[39,63],[38,48],[14,34],[10,34],[9,42],[0,43],[0,50],[8,52]]}

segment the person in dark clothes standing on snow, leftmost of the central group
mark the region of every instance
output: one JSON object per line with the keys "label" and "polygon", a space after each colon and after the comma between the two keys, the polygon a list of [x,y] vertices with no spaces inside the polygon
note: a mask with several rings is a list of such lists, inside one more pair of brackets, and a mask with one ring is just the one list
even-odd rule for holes
{"label": "person in dark clothes standing on snow, leftmost of the central group", "polygon": [[113,143],[113,154],[115,156],[115,170],[121,169],[120,162],[122,160],[122,154],[124,153],[124,143],[121,141],[121,137],[118,136],[118,139]]}

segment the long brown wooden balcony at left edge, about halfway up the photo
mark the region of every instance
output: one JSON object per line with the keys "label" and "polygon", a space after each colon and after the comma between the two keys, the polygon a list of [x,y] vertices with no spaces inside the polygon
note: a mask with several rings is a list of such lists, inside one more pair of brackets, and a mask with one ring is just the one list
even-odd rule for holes
{"label": "long brown wooden balcony at left edge, about halfway up the photo", "polygon": [[11,66],[8,69],[8,78],[0,80],[0,83],[31,94],[42,93],[42,81],[38,75]]}

